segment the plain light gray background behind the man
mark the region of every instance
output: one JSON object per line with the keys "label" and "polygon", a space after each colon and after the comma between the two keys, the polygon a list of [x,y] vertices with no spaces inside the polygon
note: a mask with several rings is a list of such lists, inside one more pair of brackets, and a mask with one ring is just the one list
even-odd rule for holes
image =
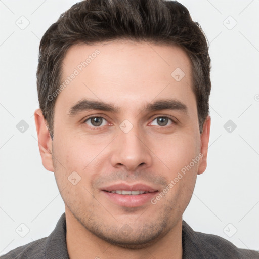
{"label": "plain light gray background behind the man", "polygon": [[[33,112],[40,38],[76,2],[0,0],[0,254],[48,236],[64,212],[54,174],[41,163]],[[206,33],[212,60],[208,166],[183,218],[195,231],[259,250],[259,1],[180,2]],[[21,16],[29,21],[23,30]],[[237,125],[231,133],[228,120]],[[25,237],[16,232],[26,234],[22,223]]]}

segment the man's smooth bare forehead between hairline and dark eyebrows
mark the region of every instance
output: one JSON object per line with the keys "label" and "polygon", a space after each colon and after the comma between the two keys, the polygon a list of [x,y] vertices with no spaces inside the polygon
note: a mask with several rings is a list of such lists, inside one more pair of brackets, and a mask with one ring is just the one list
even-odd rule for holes
{"label": "man's smooth bare forehead between hairline and dark eyebrows", "polygon": [[165,97],[195,105],[191,62],[178,46],[131,40],[74,45],[63,60],[60,84],[56,102],[66,110],[83,98],[118,107]]}

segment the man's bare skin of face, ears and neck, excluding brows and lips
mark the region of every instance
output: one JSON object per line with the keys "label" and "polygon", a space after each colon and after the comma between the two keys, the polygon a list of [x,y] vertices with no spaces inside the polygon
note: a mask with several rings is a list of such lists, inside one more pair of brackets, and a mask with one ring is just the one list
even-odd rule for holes
{"label": "man's bare skin of face, ears and neck, excluding brows and lips", "polygon": [[[41,110],[34,113],[42,164],[54,172],[65,203],[69,256],[182,258],[182,215],[197,175],[206,169],[210,132],[209,116],[199,132],[190,60],[177,46],[130,40],[75,45],[64,58],[62,80],[96,49],[100,54],[57,97],[53,141]],[[177,67],[185,73],[180,81],[171,76]],[[69,116],[82,98],[121,110]],[[147,103],[163,98],[180,100],[187,113],[143,111]],[[85,121],[93,115],[104,118],[101,126]],[[176,123],[159,124],[164,115]],[[128,133],[119,127],[125,119],[133,125]],[[155,205],[119,206],[100,190],[117,182],[141,182],[161,192],[199,153],[199,162]],[[81,177],[76,185],[68,181],[73,171]],[[125,226],[130,226],[128,235],[122,232]]]}

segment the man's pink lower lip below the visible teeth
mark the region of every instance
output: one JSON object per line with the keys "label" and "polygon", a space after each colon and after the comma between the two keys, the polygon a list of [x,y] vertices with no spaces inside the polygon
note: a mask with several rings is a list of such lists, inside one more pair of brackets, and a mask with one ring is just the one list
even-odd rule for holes
{"label": "man's pink lower lip below the visible teeth", "polygon": [[123,195],[123,194],[111,193],[107,191],[102,191],[102,192],[112,202],[116,203],[119,206],[124,206],[124,207],[142,206],[147,202],[150,202],[150,200],[158,193],[158,191],[156,191],[156,192],[148,192],[148,193],[143,193],[138,195]]}

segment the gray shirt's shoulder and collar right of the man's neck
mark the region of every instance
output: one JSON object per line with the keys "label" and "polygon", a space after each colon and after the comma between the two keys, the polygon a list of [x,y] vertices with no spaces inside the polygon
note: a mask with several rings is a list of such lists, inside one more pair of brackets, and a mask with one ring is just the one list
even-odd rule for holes
{"label": "gray shirt's shoulder and collar right of the man's neck", "polygon": [[[259,259],[259,252],[236,247],[230,241],[212,234],[205,234],[192,230],[183,221],[183,242],[187,255],[197,254],[197,258],[235,258]],[[186,258],[193,258],[193,257]]]}

